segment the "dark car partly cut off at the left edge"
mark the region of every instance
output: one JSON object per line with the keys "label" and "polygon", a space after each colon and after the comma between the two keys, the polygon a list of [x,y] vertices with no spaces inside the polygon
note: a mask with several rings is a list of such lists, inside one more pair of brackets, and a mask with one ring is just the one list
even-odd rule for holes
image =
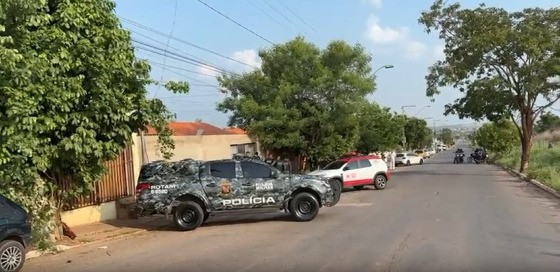
{"label": "dark car partly cut off at the left edge", "polygon": [[31,220],[16,203],[0,195],[0,272],[19,271],[31,246]]}

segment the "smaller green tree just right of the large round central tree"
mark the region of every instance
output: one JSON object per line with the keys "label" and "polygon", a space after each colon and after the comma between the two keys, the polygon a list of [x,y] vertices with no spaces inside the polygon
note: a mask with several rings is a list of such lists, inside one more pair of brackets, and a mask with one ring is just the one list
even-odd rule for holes
{"label": "smaller green tree just right of the large round central tree", "polygon": [[403,126],[402,116],[391,113],[389,108],[382,108],[374,102],[364,103],[360,110],[357,151],[368,154],[399,147]]}

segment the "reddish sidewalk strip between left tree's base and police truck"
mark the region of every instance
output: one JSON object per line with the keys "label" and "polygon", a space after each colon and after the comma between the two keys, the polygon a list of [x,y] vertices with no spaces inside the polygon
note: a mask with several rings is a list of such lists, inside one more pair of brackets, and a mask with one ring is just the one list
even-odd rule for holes
{"label": "reddish sidewalk strip between left tree's base and police truck", "polygon": [[[170,226],[170,223],[170,221],[165,220],[164,216],[150,216],[139,219],[114,219],[75,226],[71,230],[76,234],[76,239],[71,240],[64,237],[57,241],[56,245],[59,251],[65,251],[91,243],[105,242],[151,230],[163,229]],[[38,251],[31,250],[27,254],[27,259],[41,255]]]}

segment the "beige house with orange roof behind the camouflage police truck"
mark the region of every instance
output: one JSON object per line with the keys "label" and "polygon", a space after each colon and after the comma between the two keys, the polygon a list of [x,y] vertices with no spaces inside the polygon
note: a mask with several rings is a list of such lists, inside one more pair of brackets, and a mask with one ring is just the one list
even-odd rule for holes
{"label": "beige house with orange roof behind the camouflage police truck", "polygon": [[[169,127],[175,142],[172,161],[231,159],[236,153],[254,155],[259,150],[257,142],[239,128],[222,129],[203,122],[172,122]],[[163,160],[154,129],[140,135],[138,142],[143,163]]]}

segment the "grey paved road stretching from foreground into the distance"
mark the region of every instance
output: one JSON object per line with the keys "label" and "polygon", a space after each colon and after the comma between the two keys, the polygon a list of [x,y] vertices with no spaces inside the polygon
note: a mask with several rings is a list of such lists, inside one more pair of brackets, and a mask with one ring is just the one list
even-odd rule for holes
{"label": "grey paved road stretching from foreground into the distance", "polygon": [[399,168],[387,190],[349,190],[312,222],[211,219],[23,271],[560,271],[560,201],[494,166],[451,161],[448,151]]}

